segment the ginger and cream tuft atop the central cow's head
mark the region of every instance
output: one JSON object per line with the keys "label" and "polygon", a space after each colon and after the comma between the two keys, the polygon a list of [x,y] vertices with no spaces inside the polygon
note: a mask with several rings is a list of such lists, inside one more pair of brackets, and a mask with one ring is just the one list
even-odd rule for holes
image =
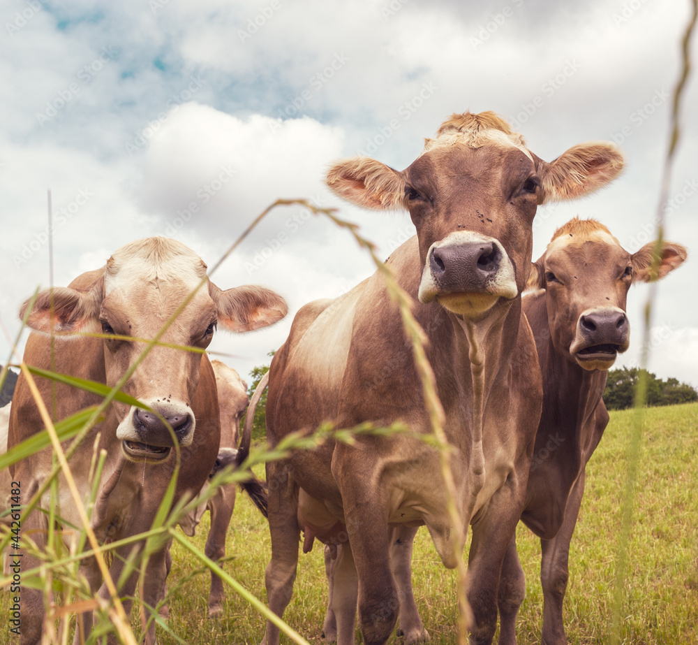
{"label": "ginger and cream tuft atop the central cow's head", "polygon": [[524,152],[529,159],[533,159],[526,140],[518,132],[514,132],[509,124],[493,112],[480,114],[454,114],[443,122],[436,138],[424,139],[424,150],[429,152],[436,147],[451,145],[467,145],[468,147],[482,147],[484,145],[498,145],[503,147],[516,147]]}

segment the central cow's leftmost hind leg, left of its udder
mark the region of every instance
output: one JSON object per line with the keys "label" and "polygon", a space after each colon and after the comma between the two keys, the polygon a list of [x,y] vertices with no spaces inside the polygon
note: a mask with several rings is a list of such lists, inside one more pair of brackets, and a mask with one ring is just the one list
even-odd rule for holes
{"label": "central cow's leftmost hind leg, left of its udder", "polygon": [[[269,532],[272,537],[272,559],[265,572],[269,609],[279,617],[288,606],[293,593],[298,565],[298,501],[285,462],[267,463],[269,486]],[[262,645],[279,645],[279,628],[267,621]]]}

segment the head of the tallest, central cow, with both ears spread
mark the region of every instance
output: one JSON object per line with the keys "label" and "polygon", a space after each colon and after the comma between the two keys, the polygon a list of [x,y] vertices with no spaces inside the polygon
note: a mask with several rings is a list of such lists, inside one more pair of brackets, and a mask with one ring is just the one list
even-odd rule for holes
{"label": "head of the tallest, central cow, with both ears spread", "polygon": [[406,208],[417,228],[419,300],[475,319],[524,289],[538,204],[589,194],[616,177],[611,143],[586,143],[550,164],[493,113],[454,114],[406,170],[355,157],[327,184],[364,208]]}

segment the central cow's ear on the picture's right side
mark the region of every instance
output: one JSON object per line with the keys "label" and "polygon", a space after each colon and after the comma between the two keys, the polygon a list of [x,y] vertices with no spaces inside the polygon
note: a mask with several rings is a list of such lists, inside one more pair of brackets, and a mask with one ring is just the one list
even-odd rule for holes
{"label": "central cow's ear on the picture's right side", "polygon": [[625,159],[614,143],[599,141],[575,145],[550,164],[536,166],[542,182],[540,203],[546,203],[593,193],[618,176]]}

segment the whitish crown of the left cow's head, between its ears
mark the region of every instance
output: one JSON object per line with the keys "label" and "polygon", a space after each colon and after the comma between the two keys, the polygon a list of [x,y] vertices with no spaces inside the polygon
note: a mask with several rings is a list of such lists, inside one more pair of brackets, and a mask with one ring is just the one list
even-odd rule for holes
{"label": "whitish crown of the left cow's head, between its ears", "polygon": [[165,280],[195,287],[206,275],[204,261],[189,247],[170,238],[146,238],[115,251],[107,261],[105,293],[119,284]]}

